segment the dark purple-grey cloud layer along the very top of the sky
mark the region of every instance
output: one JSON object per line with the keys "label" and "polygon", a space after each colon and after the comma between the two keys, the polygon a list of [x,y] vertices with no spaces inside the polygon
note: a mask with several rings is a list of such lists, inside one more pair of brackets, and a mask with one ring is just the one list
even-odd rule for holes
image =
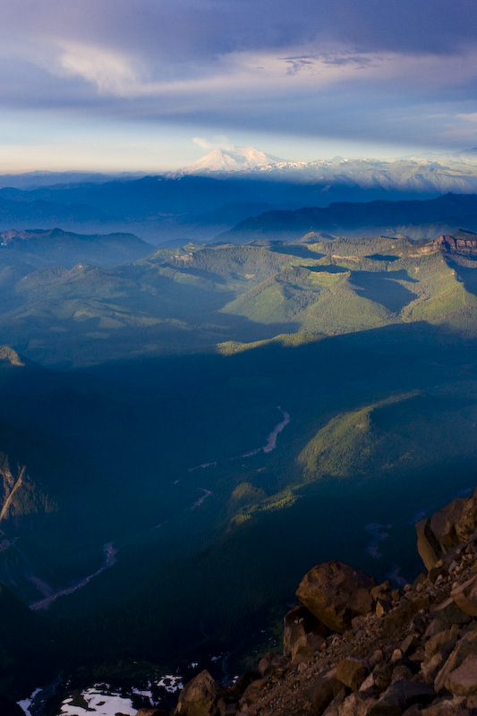
{"label": "dark purple-grey cloud layer along the very top of the sky", "polygon": [[[459,54],[474,43],[474,0],[4,0],[6,39],[100,45],[151,64],[230,52],[344,43],[357,52]],[[0,30],[1,32],[1,30]]]}

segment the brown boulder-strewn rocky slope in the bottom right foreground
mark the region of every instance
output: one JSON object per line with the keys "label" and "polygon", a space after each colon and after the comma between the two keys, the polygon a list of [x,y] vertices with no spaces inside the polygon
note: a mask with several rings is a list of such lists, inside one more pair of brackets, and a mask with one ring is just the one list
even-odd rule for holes
{"label": "brown boulder-strewn rocky slope in the bottom right foreground", "polygon": [[175,716],[477,716],[477,490],[416,527],[428,569],[414,584],[314,567],[284,655],[228,688],[202,671]]}

